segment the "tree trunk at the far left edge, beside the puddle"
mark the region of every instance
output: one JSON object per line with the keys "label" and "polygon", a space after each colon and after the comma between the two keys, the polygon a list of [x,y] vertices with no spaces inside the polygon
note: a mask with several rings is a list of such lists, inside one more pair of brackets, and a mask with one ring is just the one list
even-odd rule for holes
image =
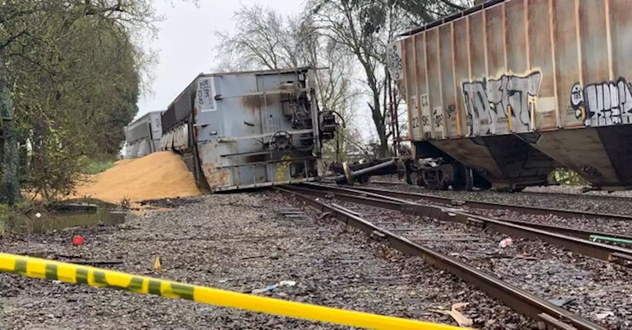
{"label": "tree trunk at the far left edge, beside the puddle", "polygon": [[[0,54],[0,64],[3,63],[3,56]],[[11,99],[9,85],[4,73],[4,65],[0,66],[0,116],[2,117],[4,135],[0,202],[13,205],[20,200],[20,180],[18,180],[20,158],[18,155],[18,138],[15,134],[15,123],[13,122],[13,100]]]}

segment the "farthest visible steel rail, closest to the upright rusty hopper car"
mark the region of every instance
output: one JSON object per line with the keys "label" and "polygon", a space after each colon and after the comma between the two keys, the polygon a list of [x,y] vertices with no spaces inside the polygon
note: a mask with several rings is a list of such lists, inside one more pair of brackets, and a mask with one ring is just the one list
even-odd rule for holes
{"label": "farthest visible steel rail, closest to the upright rusty hopper car", "polygon": [[[423,200],[428,200],[429,202],[434,202],[434,203],[460,204],[460,205],[466,205],[469,207],[475,207],[477,209],[488,209],[488,210],[507,209],[510,211],[526,213],[526,214],[540,214],[540,215],[553,214],[555,216],[560,216],[560,217],[581,217],[585,219],[612,219],[612,220],[632,221],[632,216],[626,216],[623,214],[554,209],[551,207],[513,205],[513,204],[503,204],[503,203],[496,203],[496,202],[482,202],[480,200],[451,199],[450,197],[440,197],[440,196],[430,195],[428,193],[398,192],[396,190],[371,188],[371,187],[366,187],[366,186],[354,186],[353,188],[356,190],[381,193],[382,195],[387,195],[387,196],[397,197],[397,198],[402,198],[402,199],[423,199]],[[549,195],[556,195],[556,194],[550,193]],[[630,201],[632,202],[632,199],[630,199]]]}

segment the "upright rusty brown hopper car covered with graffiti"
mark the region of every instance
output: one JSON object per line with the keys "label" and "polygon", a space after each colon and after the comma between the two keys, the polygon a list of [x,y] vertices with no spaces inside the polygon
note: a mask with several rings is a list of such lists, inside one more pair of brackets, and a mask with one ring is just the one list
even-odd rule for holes
{"label": "upright rusty brown hopper car covered with graffiti", "polygon": [[492,0],[402,34],[408,181],[520,190],[563,166],[632,187],[630,16],[629,0]]}

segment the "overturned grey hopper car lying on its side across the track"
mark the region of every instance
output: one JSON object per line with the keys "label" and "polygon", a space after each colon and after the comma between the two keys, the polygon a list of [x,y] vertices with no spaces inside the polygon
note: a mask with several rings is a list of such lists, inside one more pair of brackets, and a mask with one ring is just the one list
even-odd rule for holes
{"label": "overturned grey hopper car lying on its side across the track", "polygon": [[162,114],[161,150],[211,192],[312,181],[336,120],[310,68],[198,75]]}

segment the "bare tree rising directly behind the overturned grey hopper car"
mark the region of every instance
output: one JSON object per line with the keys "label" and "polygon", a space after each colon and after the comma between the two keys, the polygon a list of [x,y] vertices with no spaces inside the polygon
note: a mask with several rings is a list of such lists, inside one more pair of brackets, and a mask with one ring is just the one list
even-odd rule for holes
{"label": "bare tree rising directly behind the overturned grey hopper car", "polygon": [[[344,123],[353,119],[360,92],[353,84],[355,63],[346,47],[319,33],[310,16],[283,18],[270,8],[242,6],[234,13],[236,32],[217,32],[218,71],[315,68],[315,89],[321,109],[335,111]],[[345,135],[339,128],[337,136]],[[324,152],[341,157],[347,142],[334,139]]]}

